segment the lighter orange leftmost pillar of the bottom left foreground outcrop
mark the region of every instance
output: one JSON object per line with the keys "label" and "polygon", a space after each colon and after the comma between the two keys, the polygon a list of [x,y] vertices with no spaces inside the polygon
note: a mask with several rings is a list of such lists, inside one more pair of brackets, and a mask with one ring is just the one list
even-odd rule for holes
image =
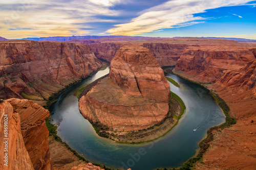
{"label": "lighter orange leftmost pillar of the bottom left foreground outcrop", "polygon": [[[0,104],[0,119],[0,169],[34,169],[24,144],[22,130],[20,128],[20,116],[18,113],[13,112],[13,107],[10,103],[4,102]],[[5,119],[8,120],[7,137],[4,134]],[[4,143],[6,142],[5,138],[9,138],[7,147],[8,152],[4,152],[6,148],[6,144]],[[5,153],[8,153],[8,162],[4,162]],[[5,163],[7,164],[5,165]]]}

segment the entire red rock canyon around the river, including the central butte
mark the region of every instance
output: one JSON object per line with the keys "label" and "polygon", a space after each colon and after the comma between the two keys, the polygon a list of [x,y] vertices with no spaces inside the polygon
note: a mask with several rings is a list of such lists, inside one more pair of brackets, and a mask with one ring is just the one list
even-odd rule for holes
{"label": "entire red rock canyon around the river, including the central butte", "polygon": [[[129,45],[130,47],[127,47]],[[137,60],[136,55],[134,58],[127,58],[133,53],[138,54],[137,57],[145,56],[146,60]],[[114,56],[119,57],[115,59]],[[9,126],[12,127],[9,131],[12,138],[9,140],[14,143],[10,149],[13,151],[10,154],[13,157],[9,157],[9,163],[12,164],[10,169],[17,169],[17,166],[28,169],[52,168],[47,144],[48,130],[44,122],[49,112],[39,105],[46,105],[51,94],[98,70],[102,66],[102,59],[113,62],[110,78],[99,82],[80,99],[79,108],[84,117],[95,123],[99,120],[116,131],[139,130],[161,122],[165,114],[160,114],[159,109],[166,111],[167,102],[163,96],[168,95],[165,92],[168,85],[166,86],[159,66],[176,65],[173,70],[175,74],[198,82],[217,93],[230,107],[230,114],[237,119],[236,125],[213,132],[214,140],[203,156],[204,164],[199,163],[196,168],[253,169],[256,166],[255,44],[200,38],[150,39],[135,42],[121,41],[119,37],[112,41],[109,37],[102,42],[96,39],[70,42],[0,42],[0,98],[9,99],[0,104],[1,125],[4,125],[3,115],[8,113]],[[125,71],[128,69],[127,65],[136,65],[132,60],[141,62],[141,65],[154,63],[151,66],[157,68],[147,70],[144,69],[146,67],[141,67],[139,69],[143,70],[136,68]],[[148,81],[153,80],[157,82],[153,83],[153,88],[147,87]],[[161,87],[165,88],[158,89],[159,82],[162,82]],[[104,91],[106,87],[109,89]],[[161,92],[154,92],[155,89]],[[100,90],[102,93],[97,95],[96,92]],[[114,93],[110,93],[111,90]],[[153,91],[154,95],[147,96],[147,90]],[[118,98],[113,98],[113,94]],[[20,100],[24,98],[39,105]],[[106,102],[108,100],[112,100],[112,103]],[[129,109],[127,106],[119,106],[120,101],[134,106]],[[88,103],[93,107],[88,105],[88,109],[81,108]],[[124,115],[111,114],[113,119],[118,117],[118,121],[113,124],[111,118],[108,121],[103,120],[110,112],[141,114],[149,121],[140,117],[130,119],[131,123],[127,123],[127,120],[124,120],[127,117]],[[152,112],[156,114],[154,117]],[[37,141],[38,138],[42,140]],[[86,165],[76,166],[74,169]]]}

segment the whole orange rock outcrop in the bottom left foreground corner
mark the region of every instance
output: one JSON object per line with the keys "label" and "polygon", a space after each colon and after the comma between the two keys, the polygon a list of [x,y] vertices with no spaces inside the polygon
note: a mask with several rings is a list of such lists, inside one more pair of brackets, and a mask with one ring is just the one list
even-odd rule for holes
{"label": "whole orange rock outcrop in the bottom left foreground corner", "polygon": [[[48,147],[49,131],[45,118],[49,111],[29,100],[9,99],[0,104],[1,145],[4,140],[4,117],[8,115],[8,164],[1,169],[52,169]],[[3,150],[4,151],[4,150]]]}

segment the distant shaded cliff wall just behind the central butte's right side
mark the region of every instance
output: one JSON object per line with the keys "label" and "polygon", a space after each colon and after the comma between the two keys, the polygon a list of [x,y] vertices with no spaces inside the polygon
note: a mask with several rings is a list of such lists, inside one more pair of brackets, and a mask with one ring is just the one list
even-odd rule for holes
{"label": "distant shaded cliff wall just behind the central butte's right side", "polygon": [[177,60],[183,54],[187,44],[172,43],[143,43],[143,46],[149,48],[152,55],[156,58],[160,66],[176,65]]}

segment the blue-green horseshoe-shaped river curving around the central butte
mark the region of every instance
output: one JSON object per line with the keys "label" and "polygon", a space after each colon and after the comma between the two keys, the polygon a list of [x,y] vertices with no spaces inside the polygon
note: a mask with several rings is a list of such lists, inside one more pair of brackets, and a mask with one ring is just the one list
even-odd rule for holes
{"label": "blue-green horseshoe-shaped river curving around the central butte", "polygon": [[[225,115],[214,99],[200,85],[166,75],[180,84],[170,83],[170,89],[180,96],[186,111],[179,124],[165,136],[143,144],[120,144],[99,137],[87,119],[78,109],[74,93],[86,84],[109,73],[109,68],[100,70],[94,76],[74,85],[62,93],[50,108],[52,124],[58,126],[57,135],[70,147],[92,162],[112,168],[151,170],[157,167],[177,167],[199,151],[198,143],[206,137],[210,127],[225,121]],[[197,129],[196,131],[193,131]]]}

